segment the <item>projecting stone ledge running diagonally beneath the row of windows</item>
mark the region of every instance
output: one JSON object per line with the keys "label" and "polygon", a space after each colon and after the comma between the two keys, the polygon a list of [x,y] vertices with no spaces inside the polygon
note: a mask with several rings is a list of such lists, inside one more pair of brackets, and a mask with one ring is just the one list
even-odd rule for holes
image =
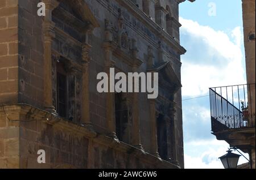
{"label": "projecting stone ledge running diagonally beneath the row of windows", "polygon": [[[3,111],[3,108],[5,109],[5,111]],[[2,108],[0,108],[0,115],[4,117],[5,113],[10,119],[12,117],[20,117],[20,114],[22,114],[23,116],[25,115],[27,119],[13,119],[17,122],[15,126],[18,126],[19,128],[21,128],[21,125],[18,122],[18,120],[31,121],[32,119],[34,119],[36,121],[36,119],[38,119],[39,121],[40,119],[41,123],[47,123],[48,125],[51,125],[58,130],[65,131],[65,132],[72,132],[73,135],[88,138],[89,140],[92,140],[92,142],[95,144],[101,144],[101,145],[104,145],[105,147],[112,148],[114,151],[118,151],[118,152],[125,153],[127,155],[134,156],[136,158],[139,158],[141,162],[147,165],[157,166],[158,168],[163,168],[163,169],[179,169],[180,168],[177,165],[161,160],[159,157],[155,157],[150,153],[144,152],[141,149],[133,147],[132,145],[119,142],[117,139],[110,138],[109,136],[104,134],[98,134],[97,132],[92,131],[89,128],[67,121],[67,119],[57,117],[55,114],[51,114],[46,110],[38,109],[31,105],[27,105],[27,104],[3,105]],[[43,121],[43,119],[46,119],[46,120]],[[0,119],[0,121],[5,121],[5,119]],[[22,138],[22,137],[20,136],[19,138]]]}

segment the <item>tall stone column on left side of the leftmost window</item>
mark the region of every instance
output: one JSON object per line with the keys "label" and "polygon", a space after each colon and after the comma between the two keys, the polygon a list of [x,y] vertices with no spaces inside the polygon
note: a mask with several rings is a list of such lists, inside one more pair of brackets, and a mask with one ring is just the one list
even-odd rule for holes
{"label": "tall stone column on left side of the leftmost window", "polygon": [[52,103],[52,38],[55,37],[52,22],[52,11],[59,5],[56,0],[44,0],[46,4],[46,16],[44,17],[44,108],[56,113]]}

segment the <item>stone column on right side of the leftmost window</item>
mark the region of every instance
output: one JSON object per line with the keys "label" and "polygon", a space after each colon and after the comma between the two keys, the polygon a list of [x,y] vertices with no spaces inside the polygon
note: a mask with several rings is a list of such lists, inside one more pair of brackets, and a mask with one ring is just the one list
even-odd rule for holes
{"label": "stone column on right side of the leftmost window", "polygon": [[89,110],[89,51],[91,46],[88,44],[82,45],[82,125],[92,130],[92,123],[90,122]]}

